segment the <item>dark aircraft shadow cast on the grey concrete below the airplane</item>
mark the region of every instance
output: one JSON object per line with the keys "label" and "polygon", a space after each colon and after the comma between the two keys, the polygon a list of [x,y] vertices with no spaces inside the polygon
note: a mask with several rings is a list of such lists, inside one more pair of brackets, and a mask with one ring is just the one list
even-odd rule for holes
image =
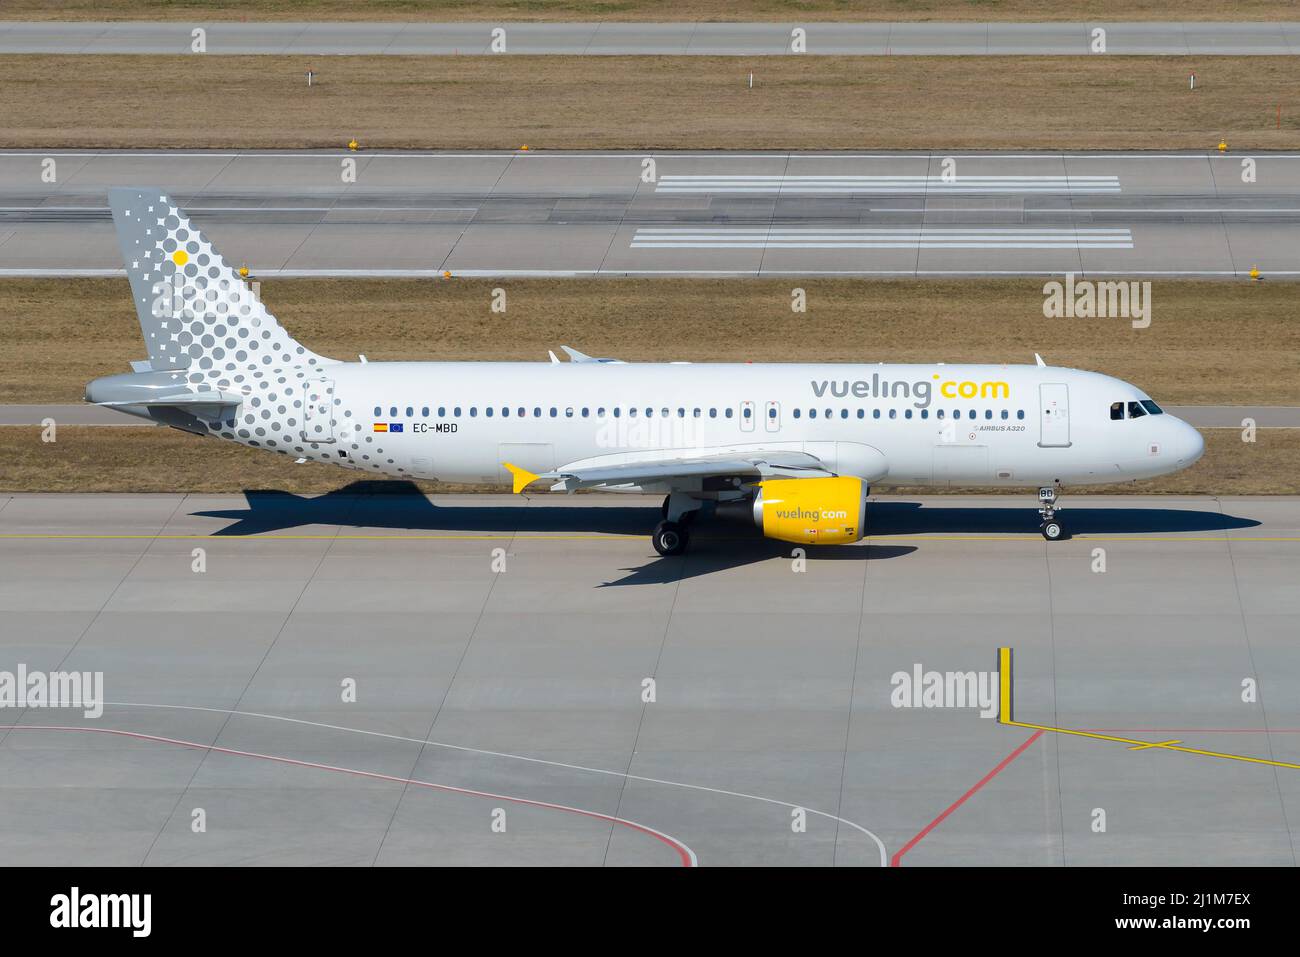
{"label": "dark aircraft shadow cast on the grey concrete below the airplane", "polygon": [[[358,481],[324,495],[295,495],[276,490],[246,490],[246,508],[194,512],[196,516],[228,519],[229,525],[213,532],[217,537],[242,537],[326,525],[406,532],[467,533],[569,533],[569,534],[649,534],[659,520],[659,508],[650,506],[573,505],[540,508],[499,506],[439,506],[430,502],[410,481]],[[874,542],[867,546],[807,547],[809,560],[871,562],[901,558],[916,550],[914,545],[881,545],[890,534],[1026,534],[1039,528],[1032,506],[948,507],[919,502],[872,502],[867,511],[867,531]],[[1072,508],[1062,510],[1072,534],[1157,534],[1162,532],[1219,532],[1258,525],[1223,512],[1190,508]],[[792,558],[796,546],[763,538],[758,529],[736,521],[702,519],[693,527],[690,551],[684,557],[656,558],[637,568],[623,568],[627,577],[610,585],[649,585],[681,581],[728,568]]]}

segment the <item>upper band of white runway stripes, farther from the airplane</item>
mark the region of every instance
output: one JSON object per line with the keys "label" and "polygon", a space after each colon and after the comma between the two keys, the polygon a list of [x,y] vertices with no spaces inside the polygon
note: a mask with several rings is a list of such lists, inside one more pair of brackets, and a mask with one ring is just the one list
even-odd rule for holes
{"label": "upper band of white runway stripes, farther from the airplane", "polygon": [[1118,176],[660,176],[655,192],[1121,192]]}

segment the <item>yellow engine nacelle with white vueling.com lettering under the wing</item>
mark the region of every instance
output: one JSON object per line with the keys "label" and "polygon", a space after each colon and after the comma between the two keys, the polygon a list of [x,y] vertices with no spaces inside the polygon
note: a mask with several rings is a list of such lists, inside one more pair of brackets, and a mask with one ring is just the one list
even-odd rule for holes
{"label": "yellow engine nacelle with white vueling.com lettering under the wing", "polygon": [[846,476],[759,482],[754,523],[766,537],[783,542],[855,542],[867,525],[867,484]]}

